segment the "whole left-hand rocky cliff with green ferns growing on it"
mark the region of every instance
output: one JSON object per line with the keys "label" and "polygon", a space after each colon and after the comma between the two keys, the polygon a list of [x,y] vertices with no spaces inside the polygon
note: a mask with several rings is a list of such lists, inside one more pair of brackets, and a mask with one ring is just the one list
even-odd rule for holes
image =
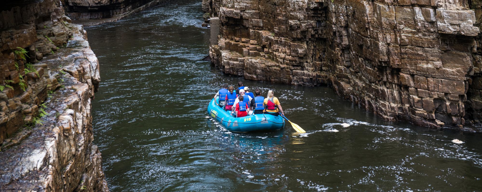
{"label": "whole left-hand rocky cliff with green ferns growing on it", "polygon": [[85,31],[59,0],[0,11],[0,191],[108,191],[92,144],[100,76]]}

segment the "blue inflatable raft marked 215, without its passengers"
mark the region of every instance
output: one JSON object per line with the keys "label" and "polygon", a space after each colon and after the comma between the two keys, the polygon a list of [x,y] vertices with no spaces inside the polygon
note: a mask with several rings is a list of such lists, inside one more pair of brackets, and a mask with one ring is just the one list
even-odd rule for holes
{"label": "blue inflatable raft marked 215, without its passengers", "polygon": [[[218,123],[231,132],[272,131],[284,127],[284,119],[269,114],[255,114],[245,117],[233,117],[217,105],[217,99],[212,99],[208,105],[208,113]],[[230,111],[229,111],[230,112]]]}

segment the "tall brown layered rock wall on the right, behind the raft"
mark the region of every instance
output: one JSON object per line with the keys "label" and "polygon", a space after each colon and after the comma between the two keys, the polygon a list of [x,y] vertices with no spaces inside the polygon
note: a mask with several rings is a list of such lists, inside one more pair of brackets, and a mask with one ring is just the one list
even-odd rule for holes
{"label": "tall brown layered rock wall on the right, behind the raft", "polygon": [[210,56],[247,80],[335,91],[387,120],[463,127],[482,109],[481,0],[203,0]]}

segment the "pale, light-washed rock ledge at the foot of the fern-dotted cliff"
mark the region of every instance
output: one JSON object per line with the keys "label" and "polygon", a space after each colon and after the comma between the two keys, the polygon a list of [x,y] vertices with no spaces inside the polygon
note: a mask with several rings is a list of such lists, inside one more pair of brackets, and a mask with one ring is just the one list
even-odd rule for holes
{"label": "pale, light-washed rock ledge at the foot of the fern-dotted cliff", "polygon": [[98,61],[82,26],[70,25],[76,30],[67,46],[38,64],[48,66],[44,78],[56,84],[59,79],[65,88],[45,95],[48,115],[25,130],[28,136],[20,132],[22,138],[7,139],[12,144],[0,152],[0,189],[108,191],[100,152],[92,144],[91,99],[100,81]]}

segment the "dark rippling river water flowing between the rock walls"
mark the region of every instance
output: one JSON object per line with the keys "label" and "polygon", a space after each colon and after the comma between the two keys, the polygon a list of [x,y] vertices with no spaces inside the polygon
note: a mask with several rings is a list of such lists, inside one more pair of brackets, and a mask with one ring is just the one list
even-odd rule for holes
{"label": "dark rippling river water flowing between the rock walls", "polygon": [[[102,77],[94,142],[112,192],[482,190],[482,134],[383,121],[326,86],[224,75],[200,61],[201,23],[200,0],[178,0],[86,28]],[[274,90],[307,134],[289,123],[252,134],[216,127],[207,103],[238,81]]]}

